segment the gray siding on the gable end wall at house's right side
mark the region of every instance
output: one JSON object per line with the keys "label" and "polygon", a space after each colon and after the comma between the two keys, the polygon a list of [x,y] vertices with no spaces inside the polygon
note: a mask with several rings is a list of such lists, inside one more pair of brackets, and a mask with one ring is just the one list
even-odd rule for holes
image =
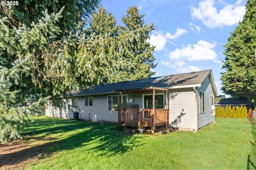
{"label": "gray siding on the gable end wall at house's right side", "polygon": [[[198,120],[198,129],[210,124],[213,122],[213,112],[210,111],[210,96],[214,96],[212,91],[212,85],[210,79],[207,76],[202,82],[201,87],[197,89],[197,120]],[[205,93],[205,112],[200,113],[200,92]]]}

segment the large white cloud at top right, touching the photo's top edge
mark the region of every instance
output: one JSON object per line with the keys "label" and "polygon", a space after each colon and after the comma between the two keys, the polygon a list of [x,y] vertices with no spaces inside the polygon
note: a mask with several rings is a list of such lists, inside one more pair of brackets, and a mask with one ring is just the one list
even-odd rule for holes
{"label": "large white cloud at top right, touching the photo's top edge", "polygon": [[224,7],[217,10],[214,6],[215,0],[203,0],[198,3],[198,8],[192,6],[191,16],[201,20],[209,28],[234,25],[238,21],[242,21],[245,13],[245,7],[241,5],[241,2],[241,0],[238,0],[235,4],[222,3]]}

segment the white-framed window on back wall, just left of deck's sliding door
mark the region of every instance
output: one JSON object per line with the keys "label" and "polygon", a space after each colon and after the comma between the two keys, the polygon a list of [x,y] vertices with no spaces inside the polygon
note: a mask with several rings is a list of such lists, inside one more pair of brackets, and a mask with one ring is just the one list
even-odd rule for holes
{"label": "white-framed window on back wall, just left of deck's sliding door", "polygon": [[[127,95],[120,95],[119,103],[127,104]],[[108,110],[109,111],[118,110],[118,96],[117,95],[108,96]]]}

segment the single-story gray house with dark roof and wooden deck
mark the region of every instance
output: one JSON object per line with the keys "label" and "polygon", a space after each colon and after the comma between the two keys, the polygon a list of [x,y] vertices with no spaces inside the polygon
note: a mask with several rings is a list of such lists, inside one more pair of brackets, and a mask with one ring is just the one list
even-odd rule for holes
{"label": "single-story gray house with dark roof and wooden deck", "polygon": [[151,127],[153,133],[160,125],[197,131],[212,123],[218,96],[212,70],[98,85],[71,94],[67,103],[72,107],[47,104],[45,115]]}

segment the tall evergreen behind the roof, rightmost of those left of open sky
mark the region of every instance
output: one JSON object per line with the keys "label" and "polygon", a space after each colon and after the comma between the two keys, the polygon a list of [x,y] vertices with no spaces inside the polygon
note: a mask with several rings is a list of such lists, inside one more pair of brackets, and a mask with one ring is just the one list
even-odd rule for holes
{"label": "tall evergreen behind the roof, rightmost of those left of open sky", "polygon": [[[119,31],[134,32],[138,29],[144,29],[144,32],[136,37],[132,46],[132,55],[127,55],[125,58],[131,63],[130,66],[116,70],[114,76],[108,79],[108,82],[120,82],[127,80],[137,80],[143,78],[150,78],[155,72],[150,69],[155,68],[154,64],[154,46],[151,46],[148,39],[150,39],[150,31],[154,29],[153,23],[144,25],[144,15],[139,15],[139,10],[136,6],[130,7],[127,10],[126,16],[122,17],[125,26],[119,26]],[[148,29],[145,29],[148,27]]]}

